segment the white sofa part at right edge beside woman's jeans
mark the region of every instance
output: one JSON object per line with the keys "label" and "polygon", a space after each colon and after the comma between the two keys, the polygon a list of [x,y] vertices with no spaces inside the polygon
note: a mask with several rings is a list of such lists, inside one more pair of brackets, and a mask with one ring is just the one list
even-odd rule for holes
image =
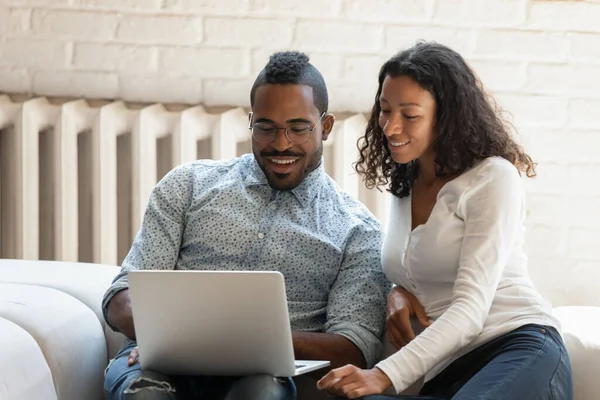
{"label": "white sofa part at right edge beside woman's jeans", "polygon": [[557,307],[554,315],[571,358],[575,399],[594,399],[600,393],[600,307]]}

